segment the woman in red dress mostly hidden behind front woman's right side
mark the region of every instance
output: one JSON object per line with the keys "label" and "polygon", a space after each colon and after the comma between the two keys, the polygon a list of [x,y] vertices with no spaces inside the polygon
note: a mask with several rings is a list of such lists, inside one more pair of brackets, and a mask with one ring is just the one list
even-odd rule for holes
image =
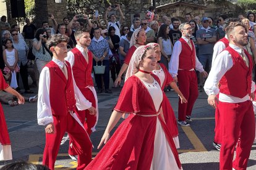
{"label": "woman in red dress mostly hidden behind front woman's right side", "polygon": [[[151,42],[151,43],[148,43],[147,46],[151,46],[155,50],[156,61],[160,61],[161,50],[160,50],[159,44]],[[174,89],[175,92],[177,92],[177,94],[181,98],[182,103],[187,102],[187,100],[185,99],[181,91],[179,91],[179,88],[177,87],[177,84],[174,82],[173,77],[170,75],[170,73],[168,72],[166,67],[163,65],[163,63],[157,63],[156,70],[153,70],[152,73],[158,76],[158,78],[160,79],[162,90],[164,89],[164,87],[169,85]],[[174,115],[173,107],[171,107],[171,103],[169,102],[165,93],[163,93],[162,108],[163,108],[163,115],[164,115],[166,126],[171,132],[171,136],[173,137],[173,141],[174,141],[174,144],[176,145],[176,148],[179,148],[179,137],[178,137],[179,132],[177,129],[176,117]]]}

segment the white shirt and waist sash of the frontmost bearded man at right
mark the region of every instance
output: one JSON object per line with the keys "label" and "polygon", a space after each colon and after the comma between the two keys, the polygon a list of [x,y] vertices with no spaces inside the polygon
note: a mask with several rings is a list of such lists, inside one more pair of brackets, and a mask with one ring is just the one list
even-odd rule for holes
{"label": "white shirt and waist sash of the frontmost bearded man at right", "polygon": [[[240,47],[237,47],[233,44],[229,44],[229,46],[241,55],[242,49]],[[207,95],[218,94],[220,92],[220,89],[218,88],[218,83],[220,79],[224,76],[224,74],[231,67],[233,67],[233,59],[231,57],[231,54],[228,51],[221,52],[216,57],[215,62],[211,66],[211,71],[208,75],[207,80],[205,81],[205,86],[203,87]],[[255,83],[252,81],[252,92],[254,91],[255,91]],[[234,97],[232,95],[226,95],[226,94],[220,93],[219,100],[221,102],[227,102],[227,103],[241,103],[241,102],[245,102],[246,100],[249,100],[249,95],[247,94],[244,97],[239,98],[239,97]]]}

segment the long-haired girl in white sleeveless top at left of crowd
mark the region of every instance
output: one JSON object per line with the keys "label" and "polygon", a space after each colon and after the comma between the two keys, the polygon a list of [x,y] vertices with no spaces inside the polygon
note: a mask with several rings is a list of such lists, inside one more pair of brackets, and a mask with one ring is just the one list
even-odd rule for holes
{"label": "long-haired girl in white sleeveless top at left of crowd", "polygon": [[4,49],[4,52],[2,53],[2,57],[6,65],[6,67],[4,67],[5,78],[11,87],[16,88],[18,87],[16,73],[20,71],[20,68],[17,65],[18,51],[14,49],[11,39],[5,39],[4,44],[6,49]]}

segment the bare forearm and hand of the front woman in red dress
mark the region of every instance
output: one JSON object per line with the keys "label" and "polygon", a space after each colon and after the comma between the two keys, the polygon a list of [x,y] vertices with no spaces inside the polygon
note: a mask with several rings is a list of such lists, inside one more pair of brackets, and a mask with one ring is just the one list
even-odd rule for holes
{"label": "bare forearm and hand of the front woman in red dress", "polygon": [[106,127],[103,137],[100,140],[100,144],[98,145],[98,149],[101,147],[102,144],[106,144],[106,142],[108,142],[109,133],[111,132],[113,127],[116,126],[116,124],[119,121],[119,119],[121,118],[121,116],[122,116],[122,113],[120,113],[116,110],[113,111],[112,115],[109,118],[108,126]]}

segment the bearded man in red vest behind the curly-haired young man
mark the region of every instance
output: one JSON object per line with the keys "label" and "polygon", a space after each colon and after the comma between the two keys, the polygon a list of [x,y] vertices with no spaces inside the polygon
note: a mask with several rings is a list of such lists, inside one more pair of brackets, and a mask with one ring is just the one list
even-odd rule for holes
{"label": "bearded man in red vest behind the curly-haired young man", "polygon": [[[75,31],[74,36],[77,45],[67,53],[66,60],[71,65],[75,84],[79,87],[80,94],[92,103],[92,107],[96,108],[96,115],[91,115],[90,110],[79,111],[76,109],[77,117],[79,117],[90,136],[95,131],[98,120],[98,99],[92,79],[93,54],[87,49],[91,43],[90,31],[79,29]],[[70,145],[72,146],[72,139],[70,139]],[[69,155],[72,160],[75,160],[77,153],[73,147],[69,147]]]}

